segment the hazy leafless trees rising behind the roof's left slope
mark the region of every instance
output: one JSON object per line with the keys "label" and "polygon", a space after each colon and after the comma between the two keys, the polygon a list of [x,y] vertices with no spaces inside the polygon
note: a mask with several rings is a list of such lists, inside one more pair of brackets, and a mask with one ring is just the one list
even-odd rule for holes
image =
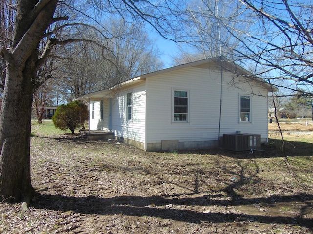
{"label": "hazy leafless trees rising behind the roof's left slope", "polygon": [[158,51],[141,27],[125,20],[110,19],[103,24],[114,35],[98,45],[75,43],[58,51],[63,56],[55,76],[59,77],[63,98],[72,101],[84,94],[162,67]]}

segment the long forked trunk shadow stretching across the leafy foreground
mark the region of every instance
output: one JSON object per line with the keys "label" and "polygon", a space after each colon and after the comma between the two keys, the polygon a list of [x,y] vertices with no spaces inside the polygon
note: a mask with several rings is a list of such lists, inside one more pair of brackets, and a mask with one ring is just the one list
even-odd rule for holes
{"label": "long forked trunk shadow stretching across the leafy foreground", "polygon": [[[292,196],[271,196],[267,198],[242,199],[238,198],[236,204],[259,204],[260,201],[271,204],[277,201],[301,201],[311,206],[313,195],[298,194]],[[234,221],[252,221],[265,224],[280,223],[286,225],[298,225],[313,230],[313,219],[304,218],[303,214],[296,217],[248,215],[235,213],[203,213],[191,209],[181,209],[179,205],[224,205],[223,202],[208,199],[207,196],[196,198],[165,198],[162,196],[118,196],[112,198],[99,198],[97,196],[72,197],[62,195],[40,195],[32,206],[39,209],[56,211],[72,211],[80,214],[114,215],[123,214],[128,216],[150,216],[163,219],[171,219],[188,223],[224,223]],[[184,206],[183,206],[184,207]],[[303,208],[304,211],[306,208]]]}

